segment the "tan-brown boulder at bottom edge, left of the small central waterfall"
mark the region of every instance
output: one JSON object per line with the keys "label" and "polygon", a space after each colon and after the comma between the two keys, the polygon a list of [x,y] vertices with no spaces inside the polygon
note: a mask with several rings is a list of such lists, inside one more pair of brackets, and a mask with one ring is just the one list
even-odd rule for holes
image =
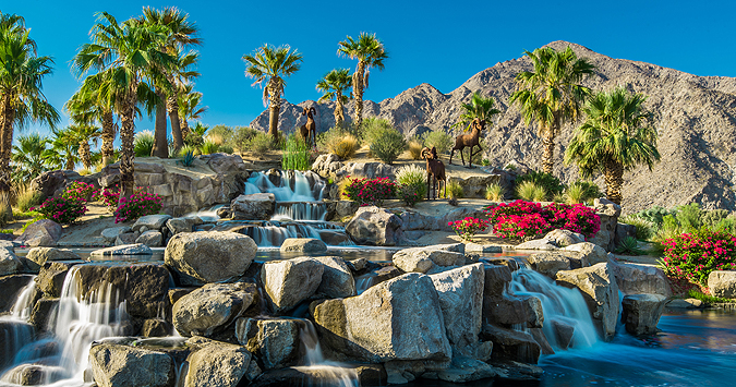
{"label": "tan-brown boulder at bottom edge, left of the small central waterfall", "polygon": [[189,339],[186,343],[195,350],[186,358],[184,387],[242,386],[241,380],[252,380],[261,374],[245,347],[202,338]]}

